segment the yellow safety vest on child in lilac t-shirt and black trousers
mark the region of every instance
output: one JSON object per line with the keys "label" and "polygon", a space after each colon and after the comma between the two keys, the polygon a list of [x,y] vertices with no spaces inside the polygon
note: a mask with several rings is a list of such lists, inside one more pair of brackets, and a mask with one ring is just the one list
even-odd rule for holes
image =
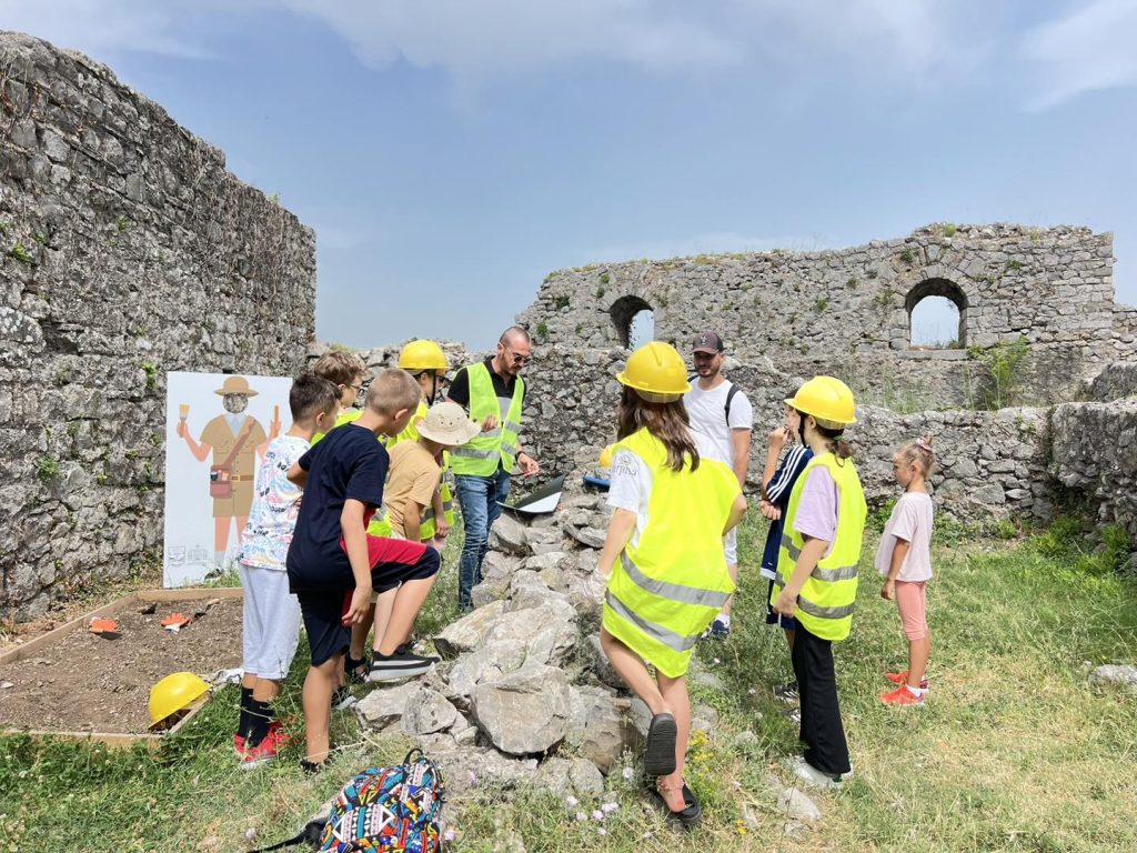
{"label": "yellow safety vest on child in lilac t-shirt and black trousers", "polygon": [[802,555],[805,538],[794,530],[794,519],[797,517],[805,480],[810,471],[819,466],[829,471],[837,483],[837,532],[828,556],[822,557],[806,578],[797,597],[794,618],[814,637],[836,641],[848,637],[853,627],[857,563],[861,562],[861,540],[869,512],[861,478],[857,477],[852,459],[838,461],[831,453],[814,456],[794,483],[786,510],[781,548],[778,552],[778,579],[774,580],[770,603],[774,603],[782,587],[789,582],[797,558]]}

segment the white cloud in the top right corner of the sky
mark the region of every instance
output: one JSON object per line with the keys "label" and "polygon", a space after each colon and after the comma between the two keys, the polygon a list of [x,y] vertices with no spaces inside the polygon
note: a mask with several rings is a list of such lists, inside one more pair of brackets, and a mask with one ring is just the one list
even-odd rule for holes
{"label": "white cloud in the top right corner of the sky", "polygon": [[1028,105],[1046,109],[1074,96],[1137,85],[1137,0],[1094,0],[1027,33],[1020,55],[1039,66]]}

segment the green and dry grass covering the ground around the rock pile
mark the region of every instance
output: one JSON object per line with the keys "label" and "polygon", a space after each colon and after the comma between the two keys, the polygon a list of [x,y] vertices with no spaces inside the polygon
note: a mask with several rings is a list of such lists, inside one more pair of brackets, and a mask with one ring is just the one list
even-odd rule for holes
{"label": "green and dry grass covering the ground around the rock pile", "polygon": [[[744,528],[745,566],[763,536],[757,520]],[[1101,571],[1117,537],[1087,545],[1084,529],[1062,522],[1010,543],[951,525],[937,538],[932,694],[926,707],[898,710],[877,699],[887,687],[881,673],[903,668],[905,644],[871,569],[877,533],[866,537],[854,632],[836,649],[856,776],[838,794],[812,795],[823,817],[803,834],[785,835],[788,822],[764,782],[771,772],[787,778],[781,762],[795,752],[796,730],[770,695],[789,677],[786,644],[763,624],[765,582],[745,569],[730,639],[700,646],[694,665],[720,680],[691,686],[697,702],[720,713],[717,730],[690,751],[688,778],[705,812],[697,834],[669,830],[636,780],[614,775],[620,808],[603,825],[574,819],[595,803],[568,808],[531,790],[507,803],[492,790],[451,802],[443,810],[457,831],[451,848],[489,853],[511,848],[511,838],[531,853],[1134,848],[1137,699],[1096,693],[1084,665],[1137,659],[1137,588]],[[456,547],[421,633],[454,616]],[[1097,562],[1082,560],[1094,555]],[[304,655],[301,646],[283,717],[299,717]],[[0,851],[247,850],[255,846],[248,829],[257,844],[290,835],[351,772],[398,760],[407,747],[399,737],[365,736],[339,714],[331,772],[302,777],[299,746],[274,767],[241,772],[231,745],[236,705],[235,687],[221,690],[152,754],[0,738]],[[744,729],[755,742],[736,746]]]}

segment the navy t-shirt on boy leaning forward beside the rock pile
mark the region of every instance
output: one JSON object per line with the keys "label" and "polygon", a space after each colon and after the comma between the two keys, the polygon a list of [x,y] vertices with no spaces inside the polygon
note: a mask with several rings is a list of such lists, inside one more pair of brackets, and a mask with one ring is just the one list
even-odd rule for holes
{"label": "navy t-shirt on boy leaning forward beside the rock pile", "polygon": [[293,593],[355,587],[351,563],[340,545],[340,515],[349,498],[379,508],[388,464],[375,433],[354,423],[337,426],[300,457],[308,485],[288,549]]}

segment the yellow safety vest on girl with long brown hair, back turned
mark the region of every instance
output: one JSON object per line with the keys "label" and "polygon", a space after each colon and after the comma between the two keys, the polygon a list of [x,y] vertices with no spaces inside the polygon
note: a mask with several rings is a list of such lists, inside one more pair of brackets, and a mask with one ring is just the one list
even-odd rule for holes
{"label": "yellow safety vest on girl with long brown hair, back turned", "polygon": [[[687,672],[699,635],[735,583],[722,550],[723,528],[739,494],[722,462],[667,467],[667,450],[641,429],[616,445],[652,471],[647,524],[629,540],[608,580],[604,627],[669,678]],[[638,528],[638,522],[637,522]]]}

